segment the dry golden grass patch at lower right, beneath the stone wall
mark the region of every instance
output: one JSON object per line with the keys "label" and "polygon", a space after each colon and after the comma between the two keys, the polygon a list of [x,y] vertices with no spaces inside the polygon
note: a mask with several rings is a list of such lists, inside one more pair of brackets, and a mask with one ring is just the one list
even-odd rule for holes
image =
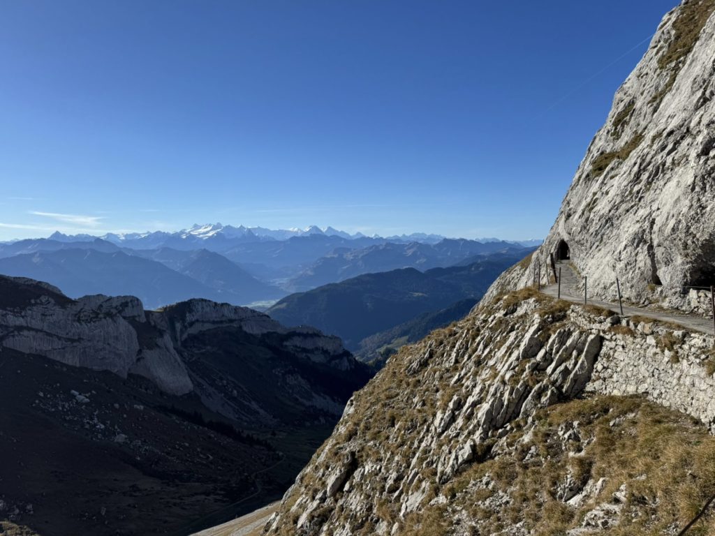
{"label": "dry golden grass patch at lower right, beneath the stone wall", "polygon": [[[563,534],[626,484],[620,524],[599,534],[655,536],[684,527],[715,495],[715,438],[689,417],[638,397],[596,397],[542,410],[536,420],[533,441],[518,447],[516,455],[475,463],[445,487],[450,508],[465,508],[477,517],[480,534],[516,522],[524,522],[533,535]],[[580,422],[581,447],[583,440],[592,438],[578,456],[569,455],[556,439],[558,426],[573,421]],[[524,462],[532,445],[543,458]],[[582,484],[604,477],[606,487],[593,502],[573,508],[554,496],[567,474]],[[511,503],[499,509],[480,504],[491,492],[470,485],[487,475],[499,490],[508,492]],[[440,512],[450,518],[448,512]],[[424,511],[430,523],[435,515],[430,507]],[[420,526],[420,517],[413,516],[411,522]],[[442,530],[443,535],[451,534],[444,526]],[[715,518],[706,512],[689,536],[714,530]]]}

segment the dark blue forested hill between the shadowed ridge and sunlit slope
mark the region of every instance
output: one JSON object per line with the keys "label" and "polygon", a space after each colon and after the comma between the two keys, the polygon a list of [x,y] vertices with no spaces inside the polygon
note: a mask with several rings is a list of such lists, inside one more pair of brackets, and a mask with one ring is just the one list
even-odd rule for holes
{"label": "dark blue forested hill between the shadowed ridge and sunlit slope", "polygon": [[[393,339],[412,334],[405,342],[416,340],[415,337],[421,337],[435,327],[460,319],[464,307],[453,307],[456,302],[482,297],[504,269],[530,251],[494,253],[467,266],[435,268],[426,272],[407,268],[363,274],[308,292],[291,294],[266,312],[285,325],[310,325],[337,335],[347,349],[360,352],[363,359],[372,359],[374,350]],[[421,334],[415,334],[420,329],[406,325],[389,339],[382,337],[383,344],[375,345],[376,334],[442,309],[451,312],[437,319],[423,318],[425,327]]]}

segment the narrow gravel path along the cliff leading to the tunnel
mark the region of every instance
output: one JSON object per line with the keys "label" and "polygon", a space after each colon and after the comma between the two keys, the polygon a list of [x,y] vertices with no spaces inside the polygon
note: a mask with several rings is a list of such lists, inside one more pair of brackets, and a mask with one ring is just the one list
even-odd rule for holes
{"label": "narrow gravel path along the cliff leading to the tunnel", "polygon": [[[573,271],[571,263],[560,261],[556,264],[556,270],[561,268],[561,299],[566,299],[568,302],[583,304],[583,290],[579,289],[580,281],[576,272]],[[558,284],[550,284],[542,287],[541,292],[548,296],[558,296]],[[598,305],[604,309],[618,314],[621,313],[617,303],[603,302],[600,299],[588,298],[588,304]],[[694,314],[676,313],[671,311],[662,311],[653,307],[632,307],[623,305],[623,316],[626,317],[649,317],[661,322],[672,322],[679,324],[687,329],[694,329],[699,332],[713,334],[713,320],[711,318],[699,317]]]}

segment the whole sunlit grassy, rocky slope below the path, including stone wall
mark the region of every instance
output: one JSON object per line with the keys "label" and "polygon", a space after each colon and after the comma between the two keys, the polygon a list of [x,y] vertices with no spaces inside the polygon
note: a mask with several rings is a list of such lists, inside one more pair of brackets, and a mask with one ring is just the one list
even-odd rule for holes
{"label": "whole sunlit grassy, rocky slope below the path, including stone wall", "polygon": [[[267,534],[674,533],[715,492],[701,467],[715,460],[713,342],[529,290],[499,297],[354,395]],[[682,480],[654,485],[668,472]]]}

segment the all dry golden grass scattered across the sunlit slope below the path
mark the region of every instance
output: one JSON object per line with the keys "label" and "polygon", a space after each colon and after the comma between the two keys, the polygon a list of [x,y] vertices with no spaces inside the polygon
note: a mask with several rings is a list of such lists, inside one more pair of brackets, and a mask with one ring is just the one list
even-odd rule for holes
{"label": "all dry golden grass scattered across the sunlit slope below the path", "polygon": [[[335,438],[320,451],[324,460],[321,469],[334,467],[347,452],[354,452],[358,465],[365,465],[365,460],[370,460],[373,465],[385,464],[385,467],[392,466],[393,462],[395,467],[418,467],[420,480],[428,485],[428,493],[420,507],[405,520],[400,520],[390,495],[378,492],[373,496],[375,502],[369,522],[353,527],[356,534],[369,534],[380,522],[385,522],[388,527],[397,522],[401,527],[397,532],[399,535],[463,535],[471,529],[453,525],[455,510],[462,509],[478,520],[475,534],[495,533],[523,522],[528,533],[533,535],[563,535],[569,528],[580,525],[586,511],[596,503],[608,500],[621,484],[626,483],[628,500],[623,522],[618,527],[610,527],[604,534],[656,535],[666,527],[684,526],[689,516],[704,505],[709,492],[715,492],[715,462],[709,465],[709,460],[715,459],[715,439],[704,427],[695,426],[689,417],[633,397],[579,399],[542,410],[534,418],[537,425],[533,439],[523,445],[518,440],[523,437],[526,422],[513,422],[516,431],[505,440],[514,455],[495,456],[492,453],[495,440],[480,442],[474,461],[463,467],[463,472],[452,480],[438,485],[435,460],[430,457],[430,452],[420,452],[418,446],[423,431],[433,426],[438,410],[443,410],[458,392],[458,384],[453,379],[460,373],[463,362],[448,362],[445,356],[451,354],[458,340],[463,341],[462,348],[475,340],[489,340],[490,351],[493,351],[515,325],[513,317],[502,316],[503,310],[526,299],[536,299],[539,306],[536,312],[551,318],[551,322],[546,322],[549,326],[542,330],[545,332],[568,322],[568,319],[557,318],[560,314],[566,316],[568,308],[583,307],[546,297],[534,289],[503,295],[483,310],[485,315],[502,312],[496,321],[466,318],[433,332],[421,342],[403,347],[355,396],[354,412],[341,422]],[[587,307],[585,310],[588,314],[603,316],[601,309]],[[652,322],[652,319],[648,321]],[[626,326],[609,329],[636,335]],[[676,348],[676,341],[667,337],[661,344],[666,349]],[[460,359],[470,359],[475,366],[473,374],[478,374],[482,381],[491,381],[497,374],[495,369],[489,374],[486,365],[481,364],[483,357],[474,353],[466,352]],[[435,365],[435,362],[443,365]],[[526,364],[525,361],[523,366]],[[581,445],[583,452],[578,456],[569,455],[568,449],[565,451],[561,441],[556,440],[559,425],[573,421],[581,423],[583,441],[592,439]],[[611,425],[611,422],[616,424]],[[454,436],[445,434],[437,440],[433,450],[456,448],[458,444]],[[526,452],[531,447],[536,448],[538,457],[525,462]],[[569,473],[581,483],[605,477],[606,489],[593,504],[578,509],[565,505],[556,498],[555,490],[558,482],[563,482]],[[493,489],[485,489],[479,484],[485,476],[493,481]],[[387,478],[385,472],[375,472],[363,475],[363,479],[354,485],[361,487],[370,482],[373,490],[385,490]],[[316,497],[325,490],[327,482],[324,479],[325,472],[306,475],[301,482],[300,494]],[[396,487],[390,493],[399,487],[403,487],[403,492],[409,489],[404,480],[398,480],[394,485]],[[499,507],[485,505],[485,500],[502,492],[508,493],[511,502]],[[341,493],[338,492],[337,505],[332,503],[332,509],[326,506],[315,512],[317,525],[321,518],[330,518],[330,524],[335,527],[348,523],[352,513],[343,510]],[[430,500],[439,495],[447,498],[447,504],[430,506]],[[286,520],[287,532],[282,532],[285,535],[295,530],[297,515],[288,514]],[[709,528],[715,530],[711,514],[706,514],[698,527],[705,528],[698,529],[700,532],[694,529],[693,535],[702,536]]]}

